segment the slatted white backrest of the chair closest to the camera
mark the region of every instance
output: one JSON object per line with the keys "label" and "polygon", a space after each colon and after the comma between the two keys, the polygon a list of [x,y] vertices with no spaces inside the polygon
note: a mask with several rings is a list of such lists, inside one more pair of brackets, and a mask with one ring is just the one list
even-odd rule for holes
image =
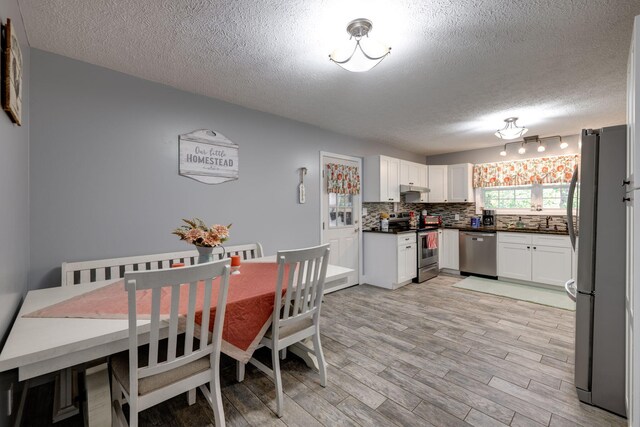
{"label": "slatted white backrest of the chair closest to the camera", "polygon": [[[211,355],[219,362],[219,351],[222,340],[222,323],[226,311],[229,289],[229,260],[199,264],[192,267],[161,269],[125,274],[125,285],[129,294],[129,381],[132,393],[137,393],[137,381],[150,375],[159,374],[190,363],[201,357]],[[210,312],[212,307],[212,287],[216,278],[220,277],[220,287],[216,303],[216,316],[213,334],[209,337]],[[187,312],[181,313],[180,294],[183,287],[187,291]],[[203,299],[198,298],[198,289],[204,288]],[[168,345],[166,359],[161,359],[159,351],[160,331],[166,327],[162,314],[162,290],[171,290],[171,302],[168,313]],[[140,367],[138,361],[138,337],[136,312],[136,293],[151,290],[151,329],[149,334],[149,360],[146,366]],[[169,292],[165,292],[165,295]],[[167,295],[168,296],[168,295]],[[196,313],[202,314],[202,325],[197,326]],[[186,323],[183,323],[186,322]],[[184,330],[183,330],[184,325]],[[194,331],[200,327],[200,343],[194,349]],[[185,346],[178,349],[178,335],[185,332]],[[180,350],[180,351],[178,351]],[[213,354],[212,354],[213,353]],[[213,363],[213,360],[212,360]],[[212,365],[213,366],[213,365]],[[135,387],[135,389],[134,389]]]}

